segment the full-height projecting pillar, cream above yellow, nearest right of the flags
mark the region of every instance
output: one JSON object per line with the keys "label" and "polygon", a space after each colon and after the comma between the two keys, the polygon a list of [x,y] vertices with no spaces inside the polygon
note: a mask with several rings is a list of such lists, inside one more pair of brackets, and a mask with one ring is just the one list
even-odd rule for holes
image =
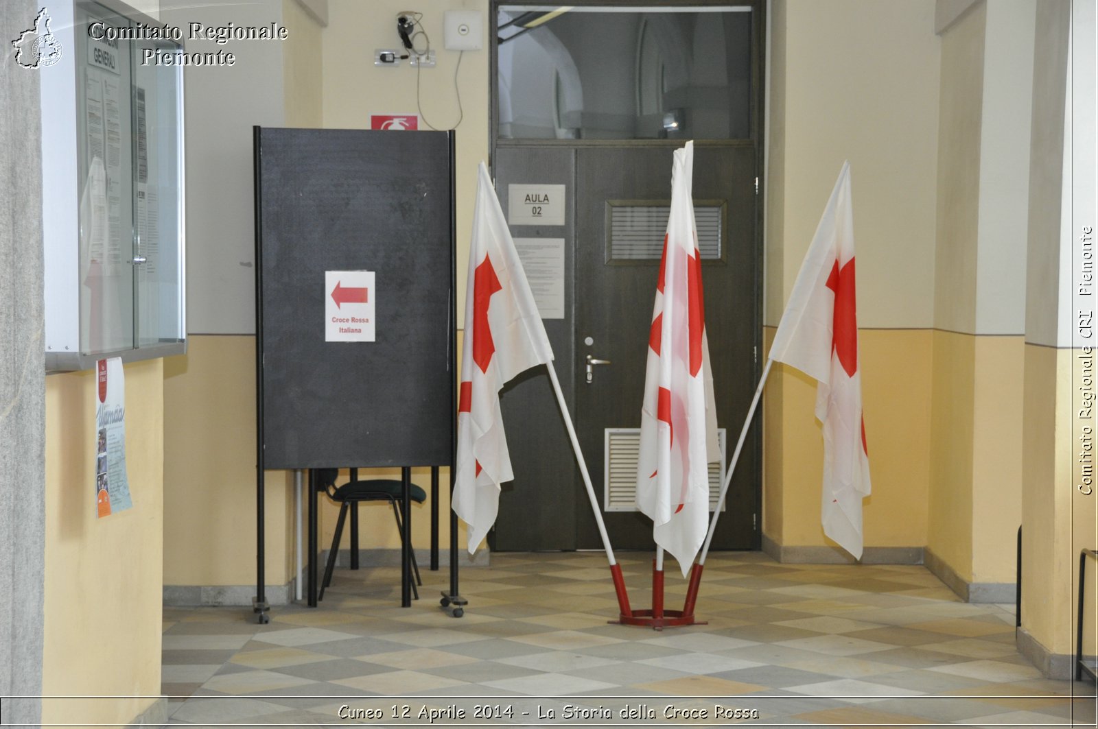
{"label": "full-height projecting pillar, cream above yellow, nearest right of the flags", "polygon": [[927,546],[972,583],[1016,570],[1033,8],[976,2],[941,35]]}

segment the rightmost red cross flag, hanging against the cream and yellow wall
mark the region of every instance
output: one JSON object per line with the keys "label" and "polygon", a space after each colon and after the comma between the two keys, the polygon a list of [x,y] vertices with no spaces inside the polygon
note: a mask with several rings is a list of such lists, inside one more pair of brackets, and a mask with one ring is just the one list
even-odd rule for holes
{"label": "rightmost red cross flag, hanging against the cream and yellow wall", "polygon": [[849,162],[843,162],[805,254],[770,358],[817,380],[816,417],[824,424],[824,534],[861,559],[870,457],[858,366]]}

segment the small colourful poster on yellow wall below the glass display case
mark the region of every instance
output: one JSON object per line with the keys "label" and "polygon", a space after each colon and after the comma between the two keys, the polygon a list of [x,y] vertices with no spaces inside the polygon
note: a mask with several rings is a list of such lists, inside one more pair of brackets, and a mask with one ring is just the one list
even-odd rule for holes
{"label": "small colourful poster on yellow wall below the glass display case", "polygon": [[96,362],[96,514],[133,506],[126,479],[126,383],[117,357]]}

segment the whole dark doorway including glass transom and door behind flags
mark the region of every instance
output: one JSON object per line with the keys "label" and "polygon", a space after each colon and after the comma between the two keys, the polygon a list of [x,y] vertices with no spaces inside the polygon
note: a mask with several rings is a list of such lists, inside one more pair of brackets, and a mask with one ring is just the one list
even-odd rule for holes
{"label": "whole dark doorway including glass transom and door behind flags", "polygon": [[[531,285],[612,543],[649,550],[651,521],[632,506],[636,441],[672,154],[687,139],[726,462],[760,373],[762,7],[496,2],[492,15],[496,191],[528,273],[538,269]],[[492,548],[601,548],[544,371],[501,400],[515,480]],[[760,447],[755,427],[715,549],[759,547]],[[722,473],[713,464],[714,503]]]}

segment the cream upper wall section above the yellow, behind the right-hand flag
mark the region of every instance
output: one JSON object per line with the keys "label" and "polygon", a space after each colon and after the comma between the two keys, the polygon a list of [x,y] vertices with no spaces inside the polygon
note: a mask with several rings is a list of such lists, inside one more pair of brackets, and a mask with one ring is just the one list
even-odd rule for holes
{"label": "cream upper wall section above the yellow, behind the right-hand flag", "polygon": [[[939,38],[933,0],[774,0],[765,324],[776,325],[844,159],[861,327],[929,327],[934,307]],[[773,142],[773,141],[772,141]],[[781,194],[775,195],[775,186]]]}

